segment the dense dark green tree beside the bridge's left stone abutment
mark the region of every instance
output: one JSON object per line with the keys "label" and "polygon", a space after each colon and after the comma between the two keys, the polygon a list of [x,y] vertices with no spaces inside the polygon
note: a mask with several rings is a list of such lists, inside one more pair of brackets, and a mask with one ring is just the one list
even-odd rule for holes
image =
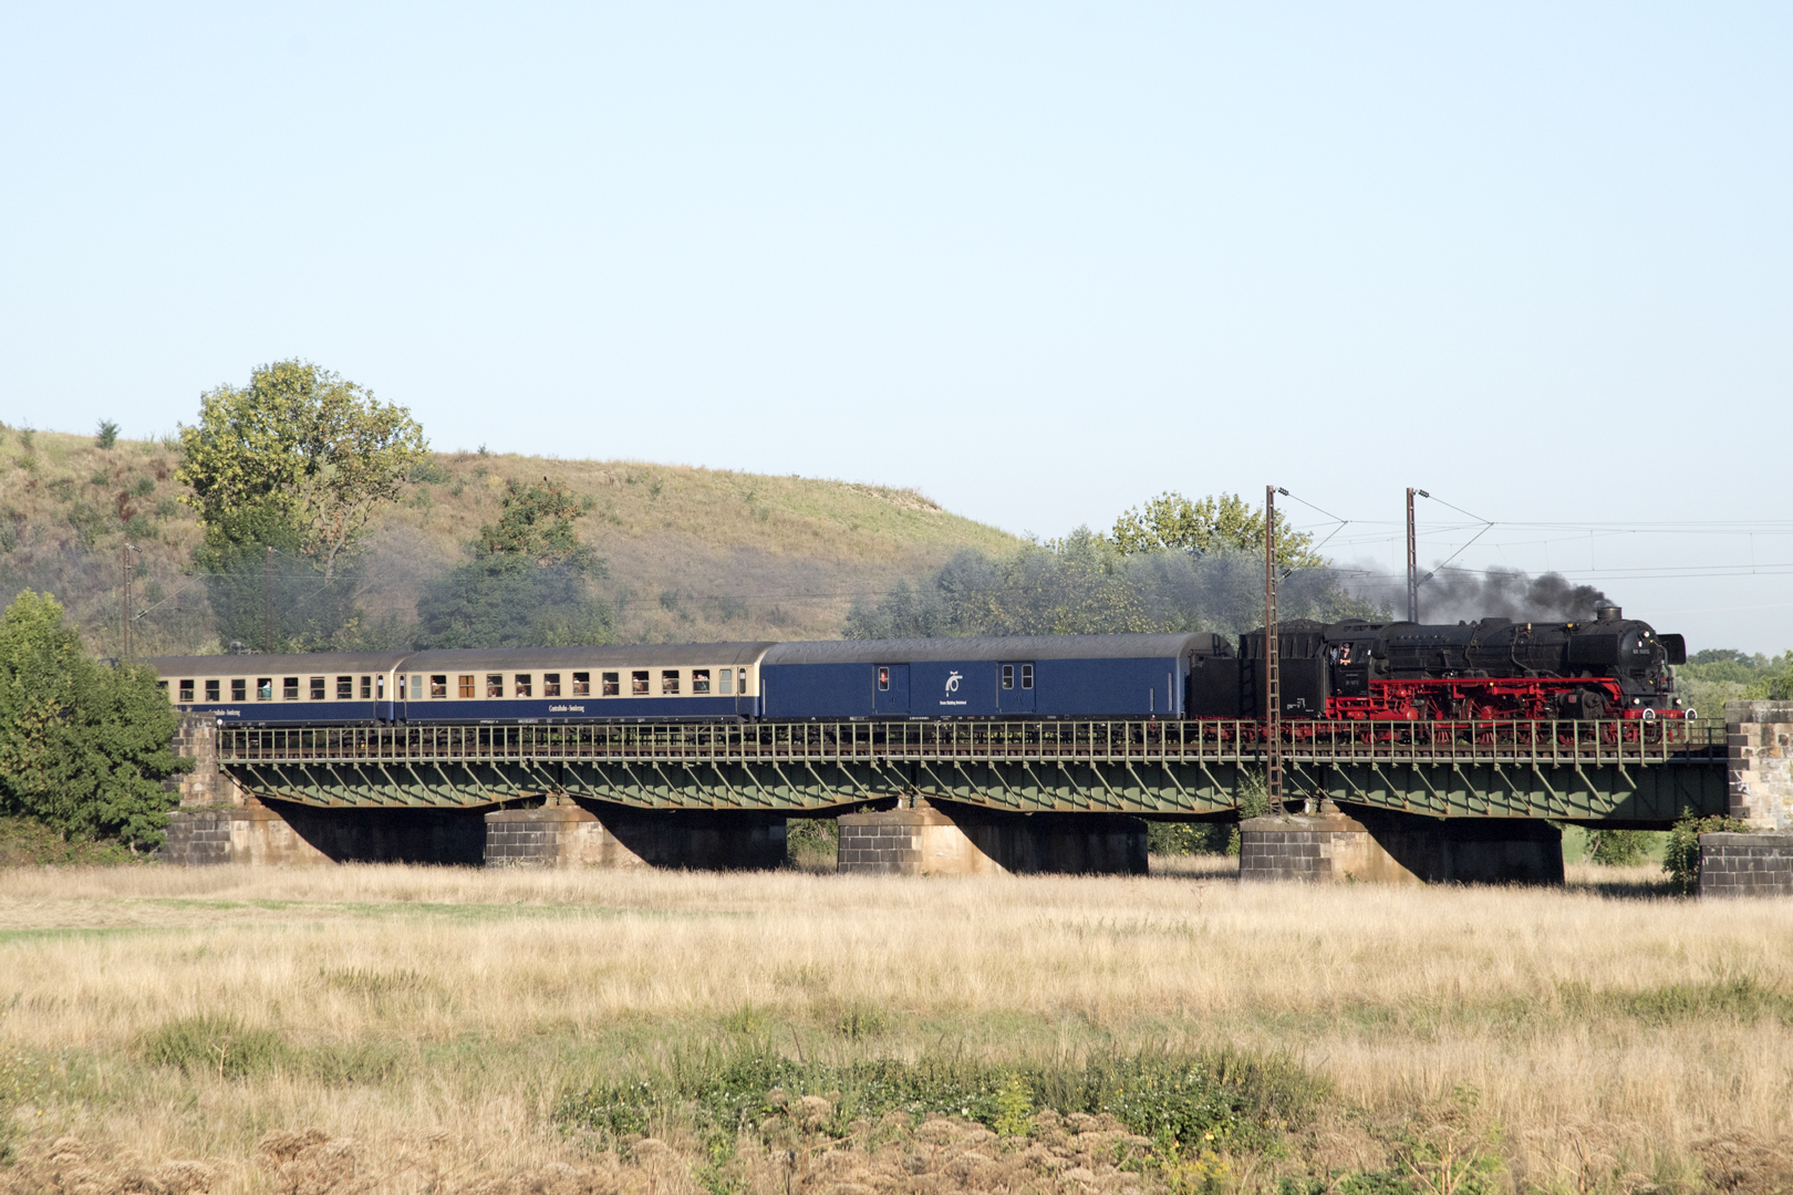
{"label": "dense dark green tree beside the bridge's left stone abutment", "polygon": [[169,751],[179,718],[151,668],[109,668],[30,589],[0,615],[0,806],[65,838],[161,842],[179,795],[161,781],[190,767]]}

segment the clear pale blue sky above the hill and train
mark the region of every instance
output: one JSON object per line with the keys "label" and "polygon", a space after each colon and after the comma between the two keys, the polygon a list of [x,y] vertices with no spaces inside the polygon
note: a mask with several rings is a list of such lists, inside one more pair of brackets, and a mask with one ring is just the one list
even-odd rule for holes
{"label": "clear pale blue sky above the hill and train", "polygon": [[[0,417],[167,432],[305,357],[439,448],[918,486],[1042,536],[1277,482],[1390,566],[1422,486],[1497,523],[1460,564],[1782,650],[1789,34],[1771,4],[5,4]],[[1422,507],[1443,559],[1468,521]]]}

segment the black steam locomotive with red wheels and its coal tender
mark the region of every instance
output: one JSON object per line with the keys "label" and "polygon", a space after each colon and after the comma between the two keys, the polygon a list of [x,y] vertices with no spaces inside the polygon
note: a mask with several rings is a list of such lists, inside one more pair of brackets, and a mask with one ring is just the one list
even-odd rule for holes
{"label": "black steam locomotive with red wheels and its coal tender", "polygon": [[[1603,606],[1592,622],[1481,618],[1282,622],[1278,693],[1286,718],[1547,720],[1691,718],[1671,665],[1687,663],[1678,634]],[[1189,717],[1255,718],[1264,709],[1264,631],[1239,652],[1191,670]]]}

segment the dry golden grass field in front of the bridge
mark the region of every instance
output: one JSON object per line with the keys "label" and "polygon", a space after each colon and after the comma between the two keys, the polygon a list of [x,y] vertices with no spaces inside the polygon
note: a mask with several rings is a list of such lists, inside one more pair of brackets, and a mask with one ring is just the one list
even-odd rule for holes
{"label": "dry golden grass field in front of the bridge", "polygon": [[14,869],[0,1191],[1788,1190],[1793,905],[1650,890]]}

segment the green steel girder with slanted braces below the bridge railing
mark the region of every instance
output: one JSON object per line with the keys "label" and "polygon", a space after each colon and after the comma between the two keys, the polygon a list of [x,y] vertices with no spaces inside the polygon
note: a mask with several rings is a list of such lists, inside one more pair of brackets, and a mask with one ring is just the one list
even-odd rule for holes
{"label": "green steel girder with slanted braces below the bridge railing", "polygon": [[[230,763],[244,790],[323,808],[477,808],[572,795],[651,810],[827,810],[909,794],[1011,812],[1201,817],[1250,763],[1191,760],[606,760]],[[1723,760],[1623,767],[1289,760],[1289,799],[1433,817],[1675,821],[1723,813]]]}

